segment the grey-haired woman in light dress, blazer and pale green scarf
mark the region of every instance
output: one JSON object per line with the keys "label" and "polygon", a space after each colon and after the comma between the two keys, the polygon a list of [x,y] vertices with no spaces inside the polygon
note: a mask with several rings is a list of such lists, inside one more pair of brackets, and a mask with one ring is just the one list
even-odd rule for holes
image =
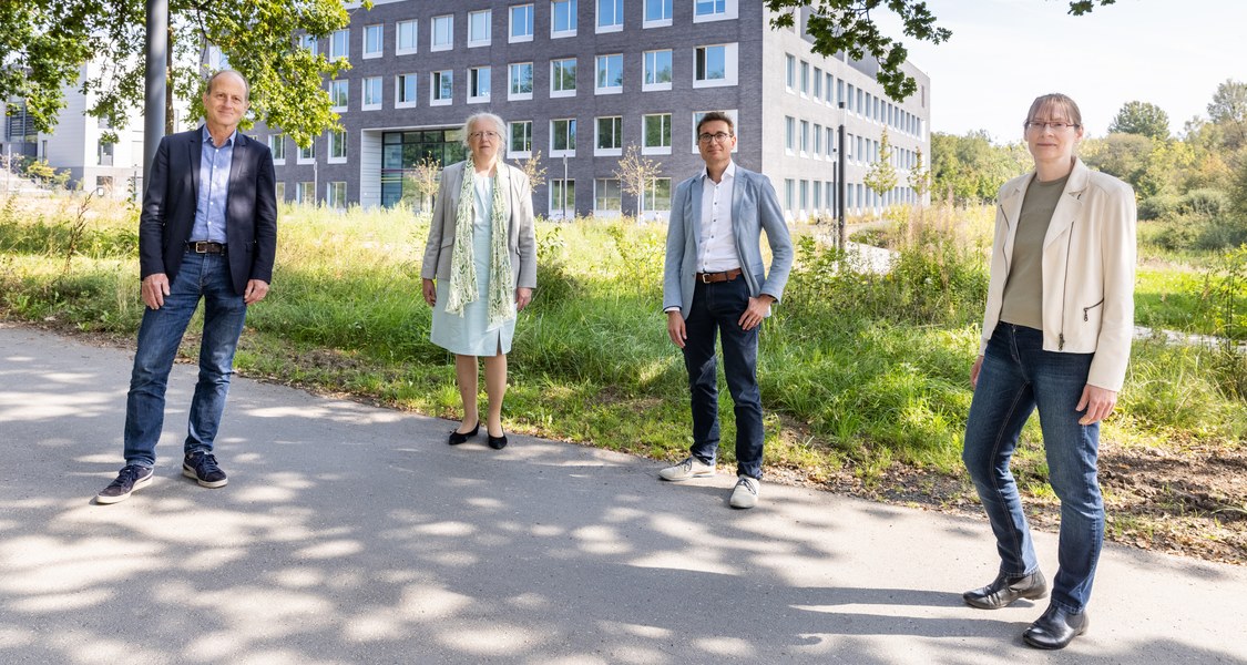
{"label": "grey-haired woman in light dress, blazer and pale green scarf", "polygon": [[503,162],[505,127],[488,112],[464,124],[470,155],[441,172],[420,271],[433,307],[430,339],[455,354],[464,415],[450,445],[480,430],[478,357],[485,358],[486,440],[494,449],[506,445],[506,353],[516,314],[536,287],[532,188],[522,171]]}

